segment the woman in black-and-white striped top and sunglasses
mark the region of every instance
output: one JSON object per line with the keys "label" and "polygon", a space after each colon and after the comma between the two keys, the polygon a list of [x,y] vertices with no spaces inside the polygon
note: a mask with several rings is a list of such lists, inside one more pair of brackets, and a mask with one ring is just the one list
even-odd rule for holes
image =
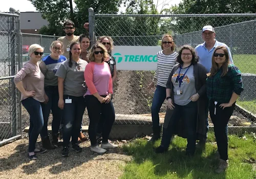
{"label": "woman in black-and-white striped top and sunglasses", "polygon": [[173,37],[169,34],[163,35],[161,48],[162,51],[157,53],[157,70],[155,76],[148,86],[148,88],[153,88],[155,83],[157,83],[151,107],[153,122],[153,137],[150,140],[151,142],[160,139],[159,111],[166,98],[166,82],[178,56],[178,53],[174,52],[175,43]]}

